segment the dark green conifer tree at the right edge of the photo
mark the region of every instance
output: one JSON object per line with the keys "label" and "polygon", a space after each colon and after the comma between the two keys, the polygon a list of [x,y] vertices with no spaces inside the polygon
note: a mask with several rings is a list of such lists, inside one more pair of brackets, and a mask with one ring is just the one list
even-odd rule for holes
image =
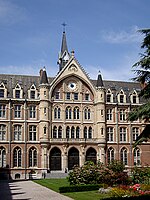
{"label": "dark green conifer tree at the right edge of the photo", "polygon": [[137,138],[134,146],[150,138],[150,29],[139,30],[139,32],[145,35],[141,45],[144,53],[140,54],[140,60],[132,66],[136,68],[134,70],[136,77],[133,80],[141,84],[142,89],[139,97],[143,98],[145,103],[134,108],[129,113],[128,118],[130,121],[142,119],[146,123],[146,126]]}

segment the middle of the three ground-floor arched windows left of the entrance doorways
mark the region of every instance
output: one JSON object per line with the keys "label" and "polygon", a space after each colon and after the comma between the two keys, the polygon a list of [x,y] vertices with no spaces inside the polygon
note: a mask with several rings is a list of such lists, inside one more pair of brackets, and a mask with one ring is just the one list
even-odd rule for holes
{"label": "middle of the three ground-floor arched windows left of the entrance doorways", "polygon": [[21,167],[21,148],[16,147],[13,151],[13,167]]}

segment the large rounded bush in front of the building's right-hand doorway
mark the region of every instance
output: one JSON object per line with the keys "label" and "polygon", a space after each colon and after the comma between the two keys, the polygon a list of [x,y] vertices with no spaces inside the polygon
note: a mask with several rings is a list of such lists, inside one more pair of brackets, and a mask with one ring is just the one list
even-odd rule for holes
{"label": "large rounded bush in front of the building's right-hand doorway", "polygon": [[[102,163],[94,164],[86,162],[82,167],[74,167],[69,173],[68,181],[70,185],[79,184],[128,184],[128,175],[123,172],[124,167],[117,167],[117,163],[104,166]],[[115,166],[114,166],[115,165]]]}

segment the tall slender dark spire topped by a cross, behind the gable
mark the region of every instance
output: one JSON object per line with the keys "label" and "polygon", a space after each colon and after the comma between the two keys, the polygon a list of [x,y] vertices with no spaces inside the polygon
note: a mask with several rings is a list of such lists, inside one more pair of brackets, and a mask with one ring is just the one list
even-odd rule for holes
{"label": "tall slender dark spire topped by a cross, behind the gable", "polygon": [[67,48],[67,40],[66,40],[66,32],[65,32],[66,24],[63,23],[62,25],[64,29],[63,29],[63,36],[62,36],[61,52],[59,54],[59,59],[57,62],[57,64],[59,64],[59,70],[61,70],[66,65],[66,63],[68,62],[70,58],[68,48]]}

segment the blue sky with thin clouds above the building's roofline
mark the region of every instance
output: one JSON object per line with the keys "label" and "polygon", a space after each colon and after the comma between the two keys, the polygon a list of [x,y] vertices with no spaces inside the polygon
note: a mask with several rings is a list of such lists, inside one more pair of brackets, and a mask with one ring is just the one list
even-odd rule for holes
{"label": "blue sky with thin clouds above the building's roofline", "polygon": [[92,79],[129,81],[149,27],[149,0],[0,0],[0,73],[58,72],[63,22],[69,51]]}

